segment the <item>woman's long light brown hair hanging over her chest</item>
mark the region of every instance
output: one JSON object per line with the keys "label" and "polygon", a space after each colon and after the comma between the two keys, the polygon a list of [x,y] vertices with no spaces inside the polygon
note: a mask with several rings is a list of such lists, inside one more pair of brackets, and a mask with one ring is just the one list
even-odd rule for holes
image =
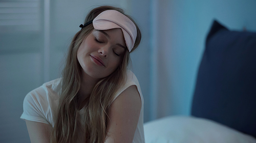
{"label": "woman's long light brown hair hanging over her chest", "polygon": [[[98,14],[105,10],[116,10],[124,14],[120,8],[112,6],[101,6],[93,9],[86,17],[84,23],[93,20]],[[124,14],[126,15],[126,14]],[[134,23],[135,21],[128,15]],[[140,43],[141,33],[137,27],[137,38],[134,49]],[[57,115],[54,117],[55,125],[51,132],[51,142],[75,142],[78,132],[82,130],[87,142],[104,142],[106,137],[106,125],[108,110],[113,101],[114,94],[125,81],[126,68],[130,61],[130,52],[125,51],[123,60],[118,68],[109,76],[98,81],[84,106],[84,126],[81,124],[78,91],[81,87],[81,66],[77,60],[77,50],[84,38],[94,30],[92,24],[82,28],[73,38],[69,47],[66,66],[62,71],[61,93]],[[132,51],[133,51],[132,50]]]}

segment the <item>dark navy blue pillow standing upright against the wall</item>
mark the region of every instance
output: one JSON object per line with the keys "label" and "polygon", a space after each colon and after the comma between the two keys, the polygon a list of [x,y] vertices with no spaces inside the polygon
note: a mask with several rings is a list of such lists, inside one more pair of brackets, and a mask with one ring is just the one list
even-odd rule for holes
{"label": "dark navy blue pillow standing upright against the wall", "polygon": [[256,33],[214,21],[206,38],[191,115],[256,137]]}

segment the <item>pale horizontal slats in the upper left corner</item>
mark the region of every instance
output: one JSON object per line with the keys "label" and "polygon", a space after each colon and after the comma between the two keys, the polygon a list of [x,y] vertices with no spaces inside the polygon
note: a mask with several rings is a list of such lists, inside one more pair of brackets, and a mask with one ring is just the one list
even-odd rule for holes
{"label": "pale horizontal slats in the upper left corner", "polygon": [[39,0],[0,2],[0,31],[39,31],[40,27]]}

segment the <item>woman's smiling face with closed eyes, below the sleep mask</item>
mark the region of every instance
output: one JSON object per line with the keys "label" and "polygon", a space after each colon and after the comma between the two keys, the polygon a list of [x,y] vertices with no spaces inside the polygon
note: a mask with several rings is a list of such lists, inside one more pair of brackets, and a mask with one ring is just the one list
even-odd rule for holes
{"label": "woman's smiling face with closed eyes, below the sleep mask", "polygon": [[77,59],[83,74],[93,78],[103,78],[117,69],[126,49],[120,28],[93,30],[78,48]]}

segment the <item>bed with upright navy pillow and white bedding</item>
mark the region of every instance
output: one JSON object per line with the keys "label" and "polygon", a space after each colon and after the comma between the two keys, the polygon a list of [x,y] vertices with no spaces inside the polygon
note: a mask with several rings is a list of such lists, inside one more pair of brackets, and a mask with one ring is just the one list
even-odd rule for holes
{"label": "bed with upright navy pillow and white bedding", "polygon": [[144,124],[146,143],[256,142],[256,33],[211,25],[191,116]]}

